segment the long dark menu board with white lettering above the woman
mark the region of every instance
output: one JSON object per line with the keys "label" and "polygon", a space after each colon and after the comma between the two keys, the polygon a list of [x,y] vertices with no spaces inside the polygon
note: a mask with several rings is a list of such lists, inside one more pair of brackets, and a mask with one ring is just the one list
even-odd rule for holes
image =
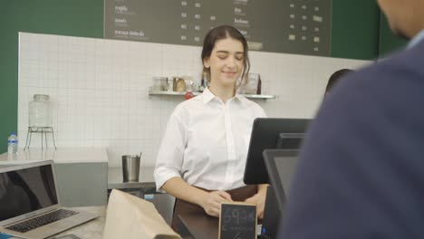
{"label": "long dark menu board with white lettering above the woman", "polygon": [[332,0],[105,0],[104,37],[198,45],[228,24],[250,50],[329,56]]}

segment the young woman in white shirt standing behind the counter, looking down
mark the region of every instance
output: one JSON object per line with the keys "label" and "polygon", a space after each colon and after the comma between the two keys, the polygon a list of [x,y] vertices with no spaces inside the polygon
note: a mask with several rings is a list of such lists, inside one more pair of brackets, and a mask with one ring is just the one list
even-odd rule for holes
{"label": "young woman in white shirt standing behind the counter, looking down", "polygon": [[266,186],[246,186],[243,175],[253,121],[265,111],[236,94],[239,77],[246,79],[250,64],[245,37],[232,26],[211,29],[201,54],[209,87],[198,97],[180,103],[171,114],[154,172],[156,186],[177,198],[178,214],[203,212],[219,216],[222,202],[265,206]]}

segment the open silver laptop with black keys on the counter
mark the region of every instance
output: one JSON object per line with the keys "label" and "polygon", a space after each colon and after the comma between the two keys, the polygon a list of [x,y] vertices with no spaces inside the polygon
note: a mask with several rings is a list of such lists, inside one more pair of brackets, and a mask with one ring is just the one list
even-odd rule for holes
{"label": "open silver laptop with black keys on the counter", "polygon": [[98,215],[64,208],[53,160],[0,167],[0,232],[45,238]]}

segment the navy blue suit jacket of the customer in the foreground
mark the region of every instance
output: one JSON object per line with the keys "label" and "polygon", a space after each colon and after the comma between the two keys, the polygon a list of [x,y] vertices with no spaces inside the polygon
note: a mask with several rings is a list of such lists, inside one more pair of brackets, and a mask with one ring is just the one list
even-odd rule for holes
{"label": "navy blue suit jacket of the customer in the foreground", "polygon": [[302,148],[281,238],[424,238],[424,41],[349,74]]}

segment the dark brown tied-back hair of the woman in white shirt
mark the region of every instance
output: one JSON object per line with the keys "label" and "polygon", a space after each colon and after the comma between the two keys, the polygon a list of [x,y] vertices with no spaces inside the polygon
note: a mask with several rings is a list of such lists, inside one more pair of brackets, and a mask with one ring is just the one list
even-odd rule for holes
{"label": "dark brown tied-back hair of the woman in white shirt", "polygon": [[[212,50],[215,47],[215,43],[217,41],[226,39],[226,38],[232,38],[234,40],[239,41],[243,44],[243,72],[241,73],[241,82],[236,85],[236,87],[243,85],[247,81],[247,74],[250,70],[250,62],[249,62],[249,56],[247,54],[247,42],[246,38],[243,36],[242,33],[240,33],[235,27],[230,25],[220,25],[215,28],[212,28],[207,35],[205,36],[205,40],[203,41],[203,49],[202,49],[202,63],[210,57],[210,54],[212,53]],[[210,69],[203,66],[203,72],[207,73],[207,82],[210,83]]]}

